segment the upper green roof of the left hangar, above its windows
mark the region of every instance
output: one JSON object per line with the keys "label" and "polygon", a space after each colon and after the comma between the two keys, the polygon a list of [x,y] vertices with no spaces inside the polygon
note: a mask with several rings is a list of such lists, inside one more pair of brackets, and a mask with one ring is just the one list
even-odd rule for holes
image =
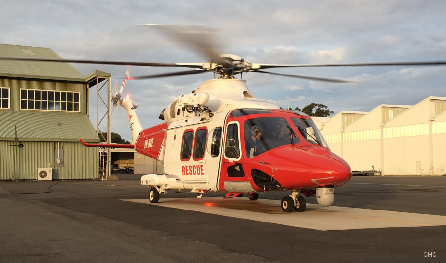
{"label": "upper green roof of the left hangar, above its windows", "polygon": [[[0,56],[61,58],[50,48],[0,44]],[[0,76],[85,82],[86,77],[69,63],[1,61]]]}

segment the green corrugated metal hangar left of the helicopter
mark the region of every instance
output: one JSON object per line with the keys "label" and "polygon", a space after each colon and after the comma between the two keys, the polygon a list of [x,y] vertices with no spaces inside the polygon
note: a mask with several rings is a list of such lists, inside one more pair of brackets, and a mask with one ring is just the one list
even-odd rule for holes
{"label": "green corrugated metal hangar left of the helicopter", "polygon": [[[0,56],[60,58],[49,48],[7,44]],[[78,141],[99,141],[88,118],[98,75],[110,77],[86,77],[68,63],[0,60],[0,181],[98,178],[98,149]]]}

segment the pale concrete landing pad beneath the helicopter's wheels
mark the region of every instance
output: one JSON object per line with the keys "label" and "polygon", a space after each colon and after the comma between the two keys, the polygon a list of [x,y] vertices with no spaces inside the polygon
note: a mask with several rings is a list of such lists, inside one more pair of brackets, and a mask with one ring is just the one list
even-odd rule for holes
{"label": "pale concrete landing pad beneath the helicopter's wheels", "polygon": [[307,204],[305,212],[285,213],[280,208],[280,200],[251,201],[245,197],[166,198],[156,204],[148,199],[121,200],[322,231],[446,225],[446,216],[441,215],[316,204]]}

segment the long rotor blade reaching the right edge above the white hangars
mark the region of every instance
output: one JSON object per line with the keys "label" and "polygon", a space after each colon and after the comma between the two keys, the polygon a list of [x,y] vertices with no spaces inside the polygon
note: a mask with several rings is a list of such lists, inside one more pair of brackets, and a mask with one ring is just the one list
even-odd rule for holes
{"label": "long rotor blade reaching the right edge above the white hangars", "polygon": [[374,66],[444,66],[446,61],[419,61],[419,62],[379,62],[379,63],[347,63],[347,64],[310,64],[310,65],[273,65],[253,64],[253,68],[279,68],[279,67],[374,67]]}

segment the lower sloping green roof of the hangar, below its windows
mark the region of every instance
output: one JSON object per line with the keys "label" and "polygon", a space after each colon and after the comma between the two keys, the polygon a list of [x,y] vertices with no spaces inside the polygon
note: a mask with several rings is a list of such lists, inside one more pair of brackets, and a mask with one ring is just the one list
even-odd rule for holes
{"label": "lower sloping green roof of the hangar, below its windows", "polygon": [[97,142],[96,131],[86,114],[0,111],[0,140]]}

